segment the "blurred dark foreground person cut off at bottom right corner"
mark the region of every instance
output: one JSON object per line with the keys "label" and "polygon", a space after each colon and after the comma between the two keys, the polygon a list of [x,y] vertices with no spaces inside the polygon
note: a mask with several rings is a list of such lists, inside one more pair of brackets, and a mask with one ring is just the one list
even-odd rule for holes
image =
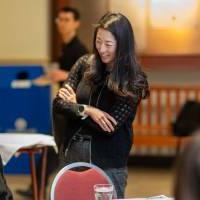
{"label": "blurred dark foreground person cut off at bottom right corner", "polygon": [[200,199],[200,130],[190,139],[178,160],[175,200]]}

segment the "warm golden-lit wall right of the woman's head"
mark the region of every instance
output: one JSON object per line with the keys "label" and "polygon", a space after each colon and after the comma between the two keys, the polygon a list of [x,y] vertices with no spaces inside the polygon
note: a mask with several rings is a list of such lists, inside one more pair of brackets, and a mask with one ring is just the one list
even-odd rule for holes
{"label": "warm golden-lit wall right of the woman's head", "polygon": [[200,54],[199,0],[109,0],[131,21],[142,54]]}

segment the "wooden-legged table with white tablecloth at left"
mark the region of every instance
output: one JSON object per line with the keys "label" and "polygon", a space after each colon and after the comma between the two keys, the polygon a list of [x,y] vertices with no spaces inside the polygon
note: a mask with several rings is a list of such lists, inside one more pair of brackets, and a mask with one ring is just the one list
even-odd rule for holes
{"label": "wooden-legged table with white tablecloth at left", "polygon": [[[27,153],[30,158],[30,171],[33,189],[33,200],[44,200],[45,192],[45,174],[46,158],[48,146],[56,147],[54,138],[45,134],[18,134],[2,133],[0,134],[0,153],[3,164],[6,165],[15,153]],[[38,182],[36,178],[35,154],[41,153],[41,187],[38,191]]]}

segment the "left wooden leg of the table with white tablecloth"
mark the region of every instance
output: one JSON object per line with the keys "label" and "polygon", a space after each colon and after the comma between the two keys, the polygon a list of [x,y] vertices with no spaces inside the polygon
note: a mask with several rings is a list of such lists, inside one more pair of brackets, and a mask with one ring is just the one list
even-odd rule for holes
{"label": "left wooden leg of the table with white tablecloth", "polygon": [[38,186],[37,186],[37,178],[36,178],[36,166],[35,166],[34,152],[29,152],[29,156],[30,156],[30,169],[31,169],[33,200],[38,200]]}

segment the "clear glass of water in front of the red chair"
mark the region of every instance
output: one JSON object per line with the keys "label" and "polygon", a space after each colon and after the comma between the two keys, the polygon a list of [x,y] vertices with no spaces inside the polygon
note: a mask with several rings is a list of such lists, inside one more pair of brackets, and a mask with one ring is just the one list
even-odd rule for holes
{"label": "clear glass of water in front of the red chair", "polygon": [[112,184],[96,184],[94,185],[95,200],[112,200],[113,185]]}

